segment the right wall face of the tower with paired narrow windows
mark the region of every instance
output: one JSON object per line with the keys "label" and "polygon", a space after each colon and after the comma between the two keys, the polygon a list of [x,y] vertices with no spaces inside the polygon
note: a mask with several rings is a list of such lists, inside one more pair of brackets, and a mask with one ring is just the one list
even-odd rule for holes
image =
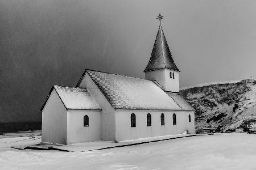
{"label": "right wall face of the tower with paired narrow windows", "polygon": [[[180,91],[180,83],[179,83],[179,72],[173,71],[169,69],[164,69],[165,73],[165,83],[166,83],[166,91],[172,91],[172,92],[179,92]],[[172,74],[172,78],[170,76],[170,73],[174,73],[174,78]]]}

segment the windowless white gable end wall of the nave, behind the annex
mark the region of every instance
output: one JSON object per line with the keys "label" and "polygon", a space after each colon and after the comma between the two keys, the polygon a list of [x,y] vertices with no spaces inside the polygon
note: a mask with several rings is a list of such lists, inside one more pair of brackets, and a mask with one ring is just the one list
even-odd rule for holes
{"label": "windowless white gable end wall of the nave, behind the annex", "polygon": [[80,83],[81,88],[87,88],[90,95],[96,99],[100,105],[101,111],[101,140],[115,141],[115,110],[109,101],[102,94],[100,89],[93,82],[92,78],[86,73],[84,79]]}

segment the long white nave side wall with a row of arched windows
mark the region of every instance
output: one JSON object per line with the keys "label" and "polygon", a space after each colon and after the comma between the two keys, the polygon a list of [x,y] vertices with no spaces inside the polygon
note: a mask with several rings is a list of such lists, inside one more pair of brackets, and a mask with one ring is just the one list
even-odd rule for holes
{"label": "long white nave side wall with a row of arched windows", "polygon": [[[131,127],[131,113],[136,115],[136,127]],[[147,126],[147,113],[151,114],[151,126]],[[164,113],[164,126],[161,126],[160,114]],[[172,114],[176,113],[177,125],[172,125]],[[191,122],[188,122],[188,114],[191,114]],[[186,111],[117,111],[115,114],[116,141],[157,137],[161,135],[180,134],[188,130],[195,133],[194,112]]]}

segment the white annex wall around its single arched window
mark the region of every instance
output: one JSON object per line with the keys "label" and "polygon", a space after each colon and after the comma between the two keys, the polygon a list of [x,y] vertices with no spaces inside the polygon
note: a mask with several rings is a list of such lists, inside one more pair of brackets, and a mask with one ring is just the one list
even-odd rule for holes
{"label": "white annex wall around its single arched window", "polygon": [[[84,127],[84,116],[89,117],[89,126]],[[67,144],[101,140],[101,111],[68,111]]]}

